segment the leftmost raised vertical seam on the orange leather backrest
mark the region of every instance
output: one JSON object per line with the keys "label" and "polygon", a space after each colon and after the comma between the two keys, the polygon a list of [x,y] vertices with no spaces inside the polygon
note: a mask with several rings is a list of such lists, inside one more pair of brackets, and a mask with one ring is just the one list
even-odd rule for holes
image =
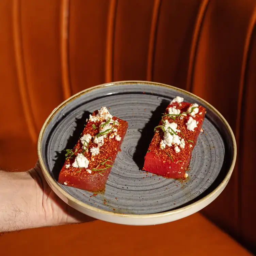
{"label": "leftmost raised vertical seam on the orange leather backrest", "polygon": [[13,39],[18,86],[28,131],[33,143],[37,141],[35,119],[31,107],[22,48],[20,0],[13,0]]}

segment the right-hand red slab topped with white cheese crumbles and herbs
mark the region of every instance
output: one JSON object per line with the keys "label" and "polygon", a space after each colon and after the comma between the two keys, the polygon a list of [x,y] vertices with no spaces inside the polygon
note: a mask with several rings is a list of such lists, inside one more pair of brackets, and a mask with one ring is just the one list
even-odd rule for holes
{"label": "right-hand red slab topped with white cheese crumbles and herbs", "polygon": [[176,97],[168,105],[149,145],[143,170],[168,178],[187,178],[192,150],[206,109]]}

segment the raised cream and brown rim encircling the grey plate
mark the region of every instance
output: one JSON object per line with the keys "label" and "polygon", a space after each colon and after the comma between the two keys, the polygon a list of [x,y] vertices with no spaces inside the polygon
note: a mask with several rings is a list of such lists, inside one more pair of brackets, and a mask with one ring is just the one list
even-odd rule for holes
{"label": "raised cream and brown rim encircling the grey plate", "polygon": [[[233,142],[233,158],[232,158],[232,161],[231,161],[231,164],[230,164],[230,167],[229,167],[229,170],[228,170],[226,176],[224,177],[224,179],[221,181],[221,183],[218,185],[217,188],[215,188],[213,191],[211,191],[209,194],[205,195],[204,197],[202,197],[198,201],[193,202],[191,204],[188,204],[186,206],[180,207],[178,209],[174,209],[174,210],[170,210],[170,211],[165,211],[165,212],[158,212],[158,213],[148,213],[148,214],[132,214],[131,213],[130,214],[130,213],[111,212],[111,211],[99,209],[99,208],[96,208],[94,206],[90,206],[90,205],[88,205],[86,203],[83,203],[83,202],[79,201],[77,198],[75,198],[75,197],[71,196],[70,194],[68,194],[65,190],[63,190],[58,185],[58,182],[55,181],[51,177],[50,173],[47,171],[47,168],[46,168],[46,166],[44,165],[44,162],[43,162],[41,142],[42,142],[42,138],[43,138],[45,129],[48,126],[48,124],[50,123],[51,119],[54,117],[54,115],[59,110],[61,110],[68,102],[73,101],[74,99],[76,99],[77,97],[81,96],[82,94],[89,93],[90,91],[98,89],[100,87],[118,86],[118,85],[122,85],[122,84],[131,84],[131,83],[134,83],[134,84],[142,83],[142,84],[148,84],[148,85],[158,85],[158,86],[163,86],[163,87],[171,88],[171,89],[173,89],[175,91],[178,91],[178,92],[181,92],[183,94],[187,94],[189,96],[194,97],[195,99],[199,99],[200,101],[202,101],[208,108],[210,108],[213,112],[215,112],[215,114],[217,114],[222,119],[224,125],[226,126],[226,128],[227,128],[227,130],[228,130],[228,132],[229,132],[229,134],[231,136],[232,142]],[[227,185],[227,182],[229,181],[229,179],[231,177],[231,174],[233,173],[233,170],[234,170],[234,167],[235,167],[235,163],[236,163],[236,157],[237,157],[237,145],[236,145],[235,135],[234,135],[230,125],[226,121],[226,119],[223,117],[223,115],[217,109],[215,109],[209,102],[207,102],[206,100],[202,99],[201,97],[199,97],[199,96],[197,96],[197,95],[195,95],[195,94],[193,94],[191,92],[188,92],[186,90],[177,88],[177,87],[172,86],[172,85],[164,84],[164,83],[158,83],[158,82],[152,82],[152,81],[143,81],[143,80],[124,80],[124,81],[116,81],[116,82],[110,82],[110,83],[103,83],[103,84],[99,84],[99,85],[96,85],[96,86],[92,86],[90,88],[87,88],[85,90],[82,90],[82,91],[72,95],[71,97],[69,97],[68,99],[64,100],[62,103],[60,103],[59,106],[54,108],[53,111],[47,117],[47,119],[44,122],[44,124],[43,124],[43,126],[41,128],[41,131],[39,133],[38,142],[37,142],[37,155],[38,155],[38,161],[39,161],[41,169],[42,169],[42,173],[43,173],[47,183],[49,184],[49,186],[54,191],[54,193],[56,193],[59,197],[60,197],[59,194],[63,195],[67,199],[68,202],[72,202],[72,207],[77,206],[77,207],[75,207],[77,210],[82,208],[82,209],[89,210],[90,212],[95,212],[95,213],[97,213],[97,215],[98,214],[103,214],[103,215],[108,215],[109,217],[121,217],[121,218],[132,218],[132,219],[138,219],[138,218],[139,219],[141,219],[141,218],[143,218],[143,219],[144,218],[146,218],[146,219],[155,219],[155,218],[158,218],[158,217],[169,217],[169,216],[178,214],[180,212],[190,210],[191,208],[193,208],[195,206],[198,206],[198,205],[201,205],[202,203],[204,203],[205,201],[208,201],[208,200],[210,202],[212,202],[224,190],[224,188]],[[211,200],[212,198],[213,198],[213,200]],[[63,200],[63,198],[61,198],[61,199]],[[68,203],[68,202],[66,202],[66,203]],[[73,206],[73,204],[74,204],[74,206]]]}

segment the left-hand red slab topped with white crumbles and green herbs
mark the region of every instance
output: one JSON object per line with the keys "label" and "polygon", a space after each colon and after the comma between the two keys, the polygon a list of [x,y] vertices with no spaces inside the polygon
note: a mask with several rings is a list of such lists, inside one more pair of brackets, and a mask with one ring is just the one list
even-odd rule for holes
{"label": "left-hand red slab topped with white crumbles and green herbs", "polygon": [[112,116],[106,107],[94,111],[73,149],[66,149],[66,160],[58,182],[99,192],[105,189],[111,167],[120,150],[128,123]]}

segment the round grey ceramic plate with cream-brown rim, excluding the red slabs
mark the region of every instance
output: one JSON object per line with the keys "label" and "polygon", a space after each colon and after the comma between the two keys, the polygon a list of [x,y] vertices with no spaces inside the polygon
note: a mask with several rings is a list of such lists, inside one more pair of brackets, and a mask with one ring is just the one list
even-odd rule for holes
{"label": "round grey ceramic plate with cream-brown rim, excluding the red slabs", "polygon": [[[186,181],[141,170],[154,127],[175,96],[207,109],[204,133],[193,150]],[[86,118],[102,106],[110,107],[110,113],[129,126],[106,190],[94,196],[57,180],[64,150],[73,148]],[[38,157],[51,188],[72,207],[105,221],[150,225],[186,217],[212,202],[231,176],[236,143],[225,119],[197,96],[164,84],[124,81],[92,87],[54,109],[39,135]]]}

